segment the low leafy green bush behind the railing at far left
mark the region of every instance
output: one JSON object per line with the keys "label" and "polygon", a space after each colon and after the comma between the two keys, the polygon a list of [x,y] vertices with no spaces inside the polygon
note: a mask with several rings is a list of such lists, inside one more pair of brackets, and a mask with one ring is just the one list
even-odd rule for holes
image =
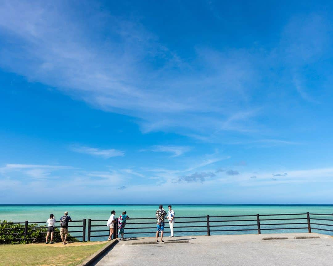
{"label": "low leafy green bush behind the railing at far left", "polygon": [[[3,224],[7,223],[7,224]],[[0,244],[28,244],[28,243],[41,243],[45,242],[47,234],[46,225],[39,226],[37,223],[28,224],[28,234],[24,240],[24,224],[13,223],[11,221],[0,220]],[[60,230],[54,228],[53,242],[60,242]],[[50,240],[51,234],[49,236]],[[22,240],[16,240],[22,238]],[[67,241],[78,242],[79,240],[74,236],[67,234]]]}

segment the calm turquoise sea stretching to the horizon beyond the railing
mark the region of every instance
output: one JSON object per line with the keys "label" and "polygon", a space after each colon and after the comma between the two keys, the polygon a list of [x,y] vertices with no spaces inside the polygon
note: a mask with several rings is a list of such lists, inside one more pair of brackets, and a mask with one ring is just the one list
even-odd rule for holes
{"label": "calm turquoise sea stretching to the horizon beyond the railing", "polygon": [[[167,210],[168,204],[163,204],[164,208]],[[159,204],[55,204],[55,205],[40,205],[40,204],[28,204],[28,205],[0,205],[0,220],[10,220],[13,222],[22,222],[25,220],[29,221],[46,221],[49,218],[49,214],[53,213],[58,220],[61,215],[63,215],[64,211],[68,211],[69,215],[73,220],[82,220],[82,219],[94,219],[94,220],[105,220],[108,219],[111,210],[116,211],[116,216],[120,215],[121,212],[127,211],[127,215],[130,218],[143,218],[143,217],[155,217],[155,212],[158,209]],[[207,223],[205,222],[205,218],[196,218],[196,219],[180,219],[177,217],[183,216],[218,216],[218,215],[253,215],[259,213],[260,215],[264,214],[287,214],[287,213],[332,213],[332,216],[322,216],[316,215],[313,217],[316,218],[325,218],[325,219],[333,219],[333,205],[313,205],[313,204],[302,204],[302,205],[294,205],[294,204],[173,204],[172,209],[175,211],[175,226],[205,226]],[[285,218],[295,218],[296,216],[283,216]],[[299,217],[305,217],[299,216]],[[261,217],[261,219],[265,218],[281,218],[281,216],[266,216]],[[211,221],[221,220],[222,218],[210,218]],[[223,220],[231,220],[236,218],[223,218]],[[239,217],[237,219],[256,219],[255,217]],[[183,222],[183,223],[180,223]],[[193,221],[202,221],[196,222]],[[139,224],[133,224],[133,223]],[[130,234],[129,232],[135,231],[145,231],[152,232],[146,233],[140,236],[153,236],[156,232],[154,224],[141,224],[142,222],[155,222],[152,220],[128,220],[128,224],[126,225],[125,235],[126,237],[135,237],[139,236],[136,234]],[[292,222],[306,222],[306,220],[285,220],[285,221],[265,221],[265,223],[292,223]],[[322,221],[322,220],[312,220],[312,222],[317,223],[327,223],[333,224],[332,221]],[[94,230],[107,230],[108,228],[104,224],[105,222],[96,222],[94,224],[100,224],[100,227],[94,227]],[[264,222],[263,222],[264,223]],[[79,223],[71,223],[71,225],[75,225]],[[82,224],[82,223],[81,223]],[[218,225],[222,223],[214,223],[211,222],[211,225]],[[227,222],[224,223],[227,225],[233,224],[244,224],[242,228],[247,229],[256,229],[256,226],[245,226],[246,224],[256,224],[256,221],[244,221],[244,222]],[[167,223],[166,223],[167,226]],[[307,227],[306,224],[301,225],[284,225],[284,227]],[[131,227],[146,227],[145,229],[132,229]],[[147,228],[148,227],[148,228]],[[278,226],[282,227],[282,226]],[[313,226],[315,227],[315,226]],[[329,226],[320,226],[317,225],[318,228],[326,228],[333,229]],[[235,229],[237,227],[234,226],[224,226],[224,227],[211,227],[211,230],[228,230]],[[270,230],[263,230],[262,233],[278,233],[278,232],[307,232],[307,229],[294,229],[294,230],[274,230],[274,225],[272,226],[264,226],[262,228],[271,228]],[[276,228],[276,226],[275,226]],[[206,230],[204,227],[195,227],[195,228],[175,228],[174,231],[189,231],[189,230]],[[126,234],[126,231],[128,232]],[[168,232],[168,228],[165,230]],[[313,232],[320,232],[325,234],[333,235],[333,232],[329,231],[317,231],[313,230]],[[228,231],[228,232],[213,232],[211,234],[243,234],[243,233],[256,233],[256,231]],[[105,232],[94,232],[92,235],[104,235]],[[205,232],[181,232],[178,235],[203,235]],[[73,235],[79,235],[78,233],[73,233]],[[168,233],[167,233],[168,235]],[[105,240],[105,237],[96,237],[92,238],[92,240]]]}

